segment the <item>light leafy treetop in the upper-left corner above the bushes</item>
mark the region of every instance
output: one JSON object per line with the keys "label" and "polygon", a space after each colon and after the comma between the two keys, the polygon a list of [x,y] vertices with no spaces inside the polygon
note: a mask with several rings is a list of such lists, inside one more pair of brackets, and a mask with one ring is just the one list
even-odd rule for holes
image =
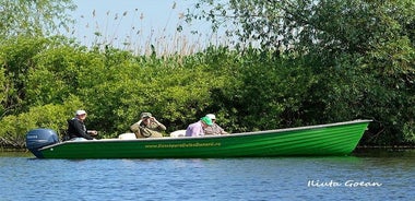
{"label": "light leafy treetop in the upper-left corner above the bushes", "polygon": [[0,4],[0,38],[51,35],[73,22],[71,0],[11,0]]}

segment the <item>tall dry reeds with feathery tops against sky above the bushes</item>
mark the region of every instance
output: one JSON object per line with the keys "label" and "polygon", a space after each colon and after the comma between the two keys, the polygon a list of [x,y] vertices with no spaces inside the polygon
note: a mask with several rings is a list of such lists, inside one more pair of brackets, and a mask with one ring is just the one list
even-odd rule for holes
{"label": "tall dry reeds with feathery tops against sky above the bushes", "polygon": [[228,38],[213,33],[206,22],[187,24],[185,13],[176,9],[176,2],[173,2],[166,23],[149,27],[146,24],[153,19],[147,19],[146,13],[140,12],[139,9],[122,13],[107,11],[105,20],[102,20],[98,16],[102,13],[92,8],[91,13],[74,16],[80,20],[71,29],[64,31],[63,35],[76,38],[88,47],[111,46],[134,55],[155,52],[157,56],[183,56],[195,54],[211,45],[229,44]]}

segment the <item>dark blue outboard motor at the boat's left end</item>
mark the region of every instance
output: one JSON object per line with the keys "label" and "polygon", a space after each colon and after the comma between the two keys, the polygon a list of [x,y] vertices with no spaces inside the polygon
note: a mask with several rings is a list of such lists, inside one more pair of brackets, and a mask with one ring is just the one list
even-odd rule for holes
{"label": "dark blue outboard motor at the boat's left end", "polygon": [[38,158],[44,157],[39,149],[58,142],[58,134],[51,129],[34,129],[26,133],[26,147]]}

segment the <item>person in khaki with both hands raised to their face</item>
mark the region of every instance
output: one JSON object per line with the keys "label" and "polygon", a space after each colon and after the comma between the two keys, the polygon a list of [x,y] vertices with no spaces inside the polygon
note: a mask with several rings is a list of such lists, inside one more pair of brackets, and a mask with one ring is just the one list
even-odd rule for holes
{"label": "person in khaki with both hands raised to their face", "polygon": [[142,113],[140,120],[130,127],[135,138],[162,138],[166,126],[158,122],[151,113]]}

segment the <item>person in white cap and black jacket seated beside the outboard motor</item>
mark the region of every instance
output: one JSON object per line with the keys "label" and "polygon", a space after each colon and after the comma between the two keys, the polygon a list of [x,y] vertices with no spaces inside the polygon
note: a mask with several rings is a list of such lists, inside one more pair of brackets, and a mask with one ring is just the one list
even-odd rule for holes
{"label": "person in white cap and black jacket seated beside the outboard motor", "polygon": [[86,111],[80,109],[75,111],[75,117],[68,120],[68,134],[71,140],[94,140],[93,137],[98,134],[96,130],[86,130],[85,119]]}

